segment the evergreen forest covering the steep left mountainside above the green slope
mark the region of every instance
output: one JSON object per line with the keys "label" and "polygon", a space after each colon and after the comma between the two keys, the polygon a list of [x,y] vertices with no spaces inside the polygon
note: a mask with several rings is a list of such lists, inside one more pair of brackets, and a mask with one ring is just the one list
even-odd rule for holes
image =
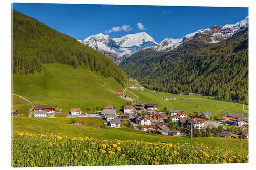
{"label": "evergreen forest covering the steep left mountainside above the green slope", "polygon": [[47,63],[90,67],[122,84],[124,72],[102,53],[13,10],[13,73],[40,71]]}

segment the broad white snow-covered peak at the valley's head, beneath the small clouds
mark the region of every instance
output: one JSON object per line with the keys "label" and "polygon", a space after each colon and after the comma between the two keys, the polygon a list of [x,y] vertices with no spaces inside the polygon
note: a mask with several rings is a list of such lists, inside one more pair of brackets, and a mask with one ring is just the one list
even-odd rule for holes
{"label": "broad white snow-covered peak at the valley's head, beneath the small clouds", "polygon": [[127,34],[121,38],[110,38],[109,35],[100,33],[78,41],[102,52],[116,63],[120,63],[125,57],[141,48],[159,45],[145,32]]}

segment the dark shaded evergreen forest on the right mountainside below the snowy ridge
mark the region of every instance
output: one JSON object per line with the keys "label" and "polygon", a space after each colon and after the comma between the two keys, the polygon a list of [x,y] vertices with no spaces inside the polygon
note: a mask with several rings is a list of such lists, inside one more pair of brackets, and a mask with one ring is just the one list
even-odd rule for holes
{"label": "dark shaded evergreen forest on the right mountainside below the snowy ridge", "polygon": [[169,52],[141,50],[119,67],[152,90],[248,103],[248,29],[216,44],[195,38]]}

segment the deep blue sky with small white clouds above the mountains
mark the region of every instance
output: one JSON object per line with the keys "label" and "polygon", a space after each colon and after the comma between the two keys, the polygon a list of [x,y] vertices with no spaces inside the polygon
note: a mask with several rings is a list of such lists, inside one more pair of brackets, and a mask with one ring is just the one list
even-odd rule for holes
{"label": "deep blue sky with small white clouds above the mountains", "polygon": [[98,33],[118,38],[145,31],[158,43],[248,16],[248,8],[242,7],[14,3],[13,9],[80,40]]}

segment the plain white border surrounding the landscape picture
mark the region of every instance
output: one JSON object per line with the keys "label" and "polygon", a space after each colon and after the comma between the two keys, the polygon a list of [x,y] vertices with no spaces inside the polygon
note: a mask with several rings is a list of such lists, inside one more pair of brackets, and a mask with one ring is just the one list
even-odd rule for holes
{"label": "plain white border surrounding the landscape picture", "polygon": [[[215,6],[215,7],[249,7],[249,163],[247,164],[201,164],[201,165],[152,165],[152,166],[94,166],[94,167],[54,167],[54,169],[102,169],[102,168],[111,168],[111,169],[255,169],[255,86],[256,86],[256,72],[255,72],[255,3],[253,1],[230,1],[230,0],[192,0],[192,1],[139,1],[139,0],[130,0],[130,1],[112,1],[112,0],[100,0],[100,1],[70,1],[70,0],[52,0],[52,1],[9,1],[2,0],[0,5],[0,16],[1,16],[1,25],[0,25],[0,39],[1,39],[1,48],[0,48],[0,69],[1,69],[1,95],[0,95],[0,104],[1,104],[1,139],[0,139],[0,167],[3,169],[11,168],[11,3],[69,3],[69,4],[119,4],[119,5],[167,5],[167,6]],[[28,169],[28,168],[25,168]],[[30,168],[31,169],[31,168]],[[40,168],[47,169],[47,168]],[[49,169],[49,168],[48,168]],[[51,168],[52,169],[52,168]]]}

